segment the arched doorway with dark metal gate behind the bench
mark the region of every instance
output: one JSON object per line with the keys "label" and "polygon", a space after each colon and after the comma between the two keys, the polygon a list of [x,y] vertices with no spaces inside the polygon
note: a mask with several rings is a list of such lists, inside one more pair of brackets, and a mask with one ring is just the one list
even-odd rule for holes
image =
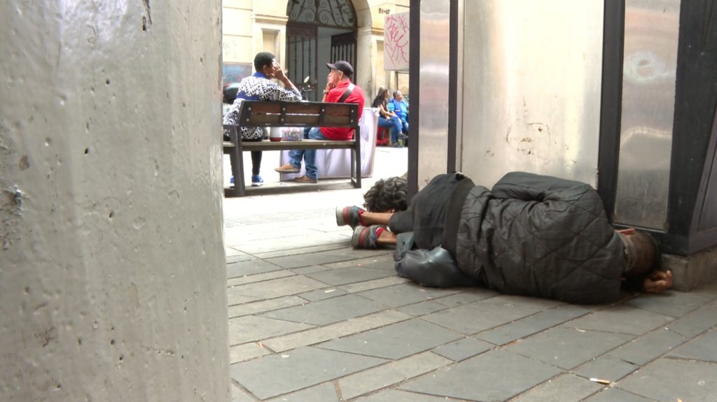
{"label": "arched doorway with dark metal gate behind the bench", "polygon": [[351,0],[289,0],[286,6],[287,69],[304,98],[320,100],[327,62],[346,60],[356,77],[356,10]]}

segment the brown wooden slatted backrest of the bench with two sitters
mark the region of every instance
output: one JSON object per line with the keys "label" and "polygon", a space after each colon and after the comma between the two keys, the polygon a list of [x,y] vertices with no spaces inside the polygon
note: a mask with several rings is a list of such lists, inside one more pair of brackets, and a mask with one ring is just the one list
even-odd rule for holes
{"label": "brown wooden slatted backrest of the bench with two sitters", "polygon": [[355,103],[242,101],[242,127],[359,127]]}

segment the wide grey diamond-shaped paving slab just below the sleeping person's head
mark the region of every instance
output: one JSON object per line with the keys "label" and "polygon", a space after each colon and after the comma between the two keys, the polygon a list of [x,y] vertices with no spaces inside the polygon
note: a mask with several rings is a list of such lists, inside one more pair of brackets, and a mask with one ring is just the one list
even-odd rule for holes
{"label": "wide grey diamond-shaped paving slab just below the sleeping person's head", "polygon": [[673,319],[668,315],[651,313],[625,305],[614,305],[605,310],[576,318],[563,325],[571,328],[640,335],[664,326]]}

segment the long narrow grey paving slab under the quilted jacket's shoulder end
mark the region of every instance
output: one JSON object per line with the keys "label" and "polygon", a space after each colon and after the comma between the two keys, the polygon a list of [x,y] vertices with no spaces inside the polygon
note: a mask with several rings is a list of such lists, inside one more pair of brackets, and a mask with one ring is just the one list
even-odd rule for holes
{"label": "long narrow grey paving slab under the quilted jacket's shoulder end", "polygon": [[513,321],[492,330],[475,335],[475,338],[487,340],[495,345],[505,345],[513,340],[525,338],[541,330],[552,328],[573,318],[589,313],[576,305],[561,305],[551,310],[541,311],[526,318]]}

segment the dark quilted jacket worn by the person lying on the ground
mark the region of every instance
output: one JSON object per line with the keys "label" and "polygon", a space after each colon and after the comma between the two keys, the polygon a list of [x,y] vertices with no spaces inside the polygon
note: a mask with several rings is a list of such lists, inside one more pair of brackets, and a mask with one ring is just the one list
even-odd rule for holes
{"label": "dark quilted jacket worn by the person lying on the ground", "polygon": [[569,303],[617,300],[622,240],[587,184],[513,172],[476,186],[458,223],[458,267],[504,293]]}

